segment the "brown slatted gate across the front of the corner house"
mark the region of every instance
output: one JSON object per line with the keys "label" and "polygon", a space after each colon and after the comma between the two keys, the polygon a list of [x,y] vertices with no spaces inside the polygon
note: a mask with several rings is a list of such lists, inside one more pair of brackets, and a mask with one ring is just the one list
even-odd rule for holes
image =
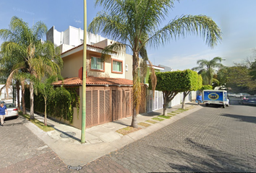
{"label": "brown slatted gate across the front of the corner house", "polygon": [[87,128],[132,115],[132,87],[94,86],[86,89]]}

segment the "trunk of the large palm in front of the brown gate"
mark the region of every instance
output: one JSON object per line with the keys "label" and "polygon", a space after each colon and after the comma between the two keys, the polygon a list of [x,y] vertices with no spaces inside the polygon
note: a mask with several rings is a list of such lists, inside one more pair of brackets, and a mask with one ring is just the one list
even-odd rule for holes
{"label": "trunk of the large palm in front of the brown gate", "polygon": [[[139,61],[138,61],[138,56],[139,54],[137,52],[133,53],[132,56],[132,77],[133,77],[133,86],[132,86],[132,92],[133,92],[133,107],[132,107],[132,124],[131,126],[133,128],[138,128],[137,125],[137,106],[140,106],[140,96],[138,91],[140,91],[140,85],[137,85],[137,78],[138,78],[138,66],[139,66]],[[137,105],[139,104],[139,105]]]}

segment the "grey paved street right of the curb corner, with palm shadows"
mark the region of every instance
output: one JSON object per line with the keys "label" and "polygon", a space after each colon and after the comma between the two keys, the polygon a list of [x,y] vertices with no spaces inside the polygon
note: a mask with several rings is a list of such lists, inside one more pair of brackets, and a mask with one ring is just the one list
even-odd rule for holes
{"label": "grey paved street right of the curb corner, with palm shadows", "polygon": [[241,105],[204,107],[83,169],[111,160],[130,172],[255,172],[255,112],[256,107]]}

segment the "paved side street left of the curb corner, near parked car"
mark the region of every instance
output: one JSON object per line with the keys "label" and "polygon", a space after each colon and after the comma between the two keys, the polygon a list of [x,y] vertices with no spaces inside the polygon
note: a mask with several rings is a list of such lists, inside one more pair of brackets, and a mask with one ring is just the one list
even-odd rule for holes
{"label": "paved side street left of the curb corner, near parked car", "polygon": [[0,172],[67,170],[59,156],[23,125],[24,118],[9,118],[5,122],[0,127]]}

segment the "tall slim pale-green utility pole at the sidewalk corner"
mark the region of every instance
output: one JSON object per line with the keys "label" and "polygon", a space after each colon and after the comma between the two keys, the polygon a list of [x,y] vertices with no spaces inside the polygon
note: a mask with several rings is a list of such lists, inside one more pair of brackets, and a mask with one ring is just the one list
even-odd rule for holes
{"label": "tall slim pale-green utility pole at the sidewalk corner", "polygon": [[86,36],[87,36],[87,9],[86,0],[84,0],[84,47],[82,55],[82,131],[81,143],[85,143],[85,125],[86,125]]}

